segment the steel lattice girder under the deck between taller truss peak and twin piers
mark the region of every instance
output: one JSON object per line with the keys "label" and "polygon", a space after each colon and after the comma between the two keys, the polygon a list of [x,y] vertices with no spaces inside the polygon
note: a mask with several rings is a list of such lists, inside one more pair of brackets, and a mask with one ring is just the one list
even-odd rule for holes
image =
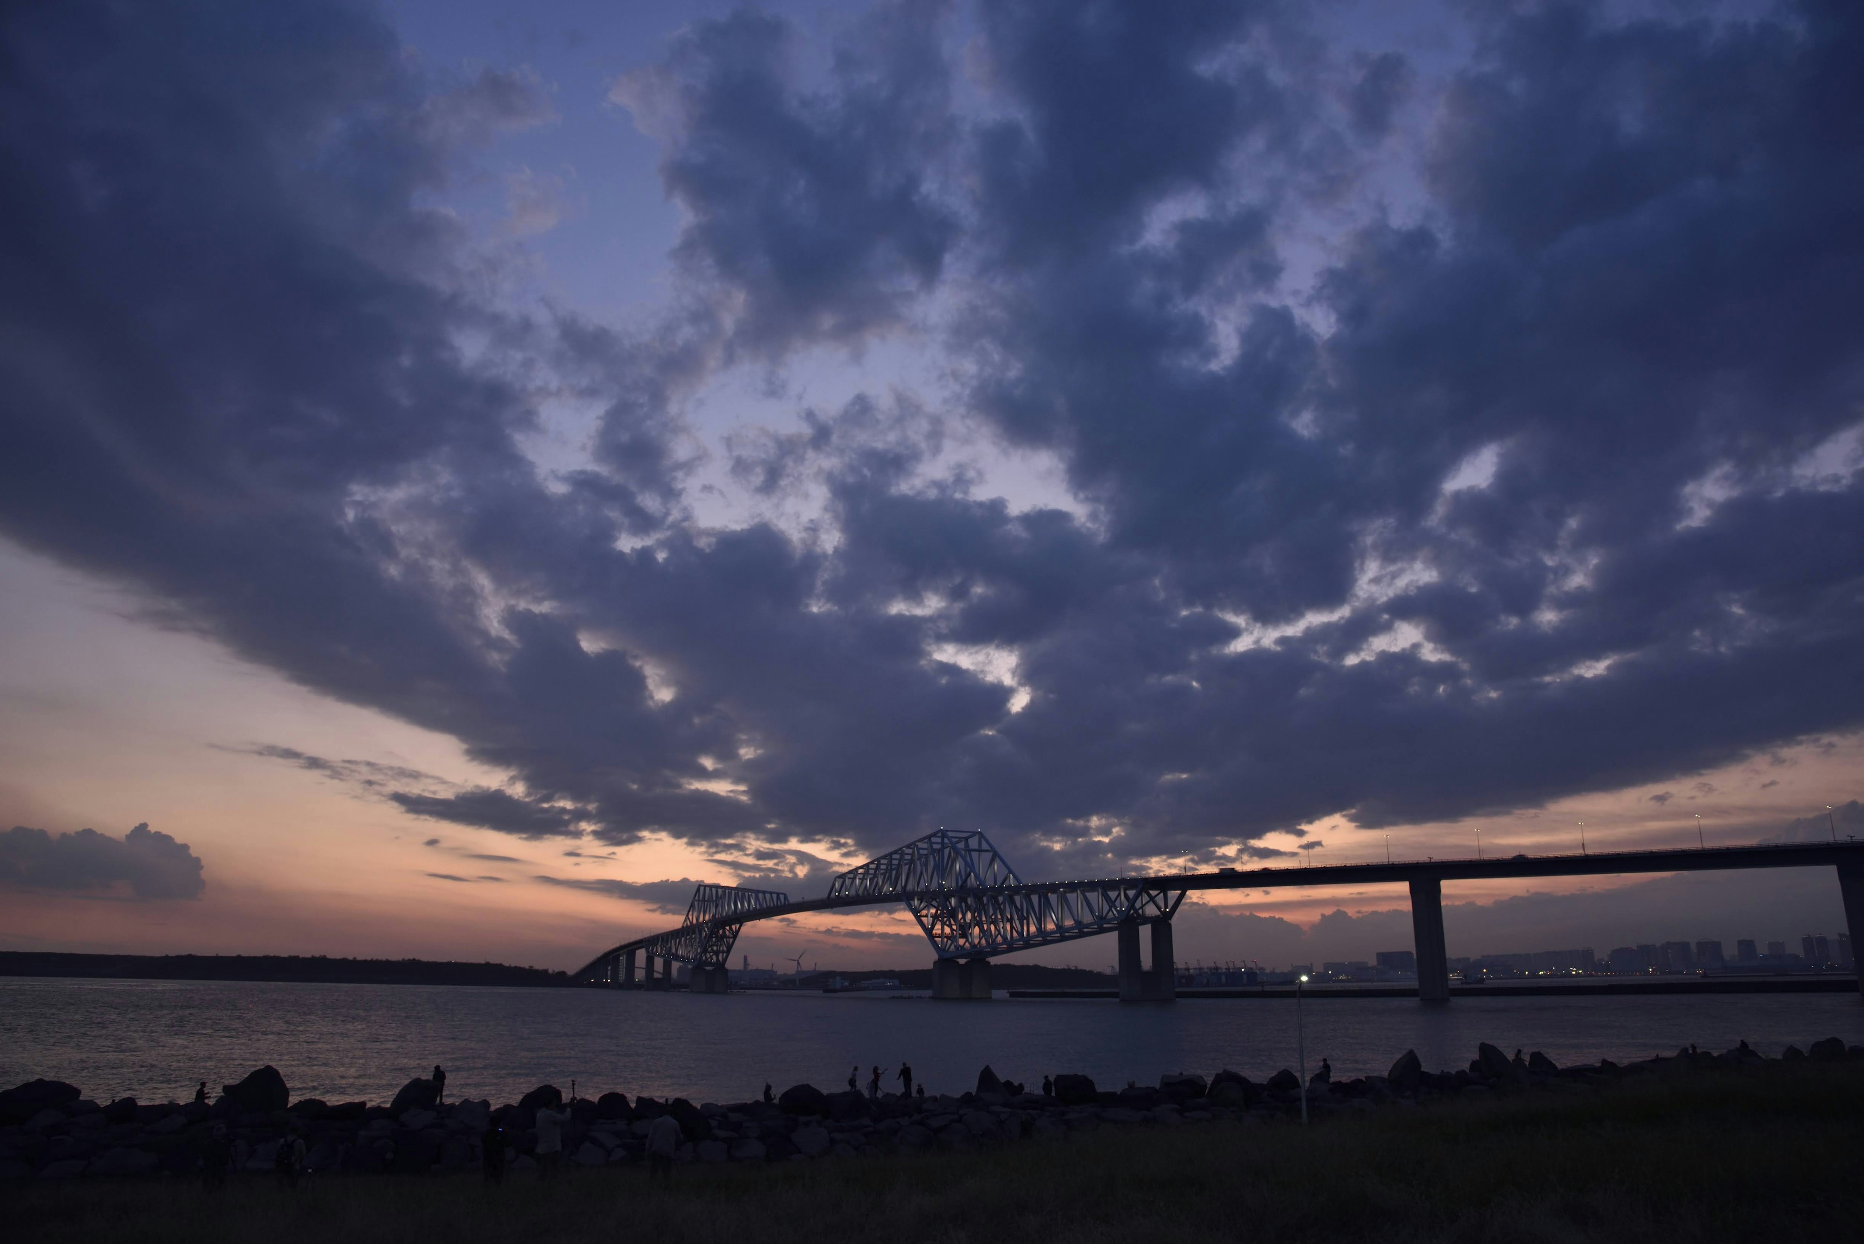
{"label": "steel lattice girder under the deck between taller truss peak and twin piers", "polygon": [[939,959],[969,959],[1090,938],[1128,919],[1171,919],[1184,895],[1133,880],[1040,892],[915,893],[906,906]]}

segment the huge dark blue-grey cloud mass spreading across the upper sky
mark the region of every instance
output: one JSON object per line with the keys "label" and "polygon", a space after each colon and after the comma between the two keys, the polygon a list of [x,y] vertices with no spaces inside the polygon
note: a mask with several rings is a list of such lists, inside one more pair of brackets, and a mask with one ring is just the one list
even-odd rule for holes
{"label": "huge dark blue-grey cloud mass spreading across the upper sky", "polygon": [[[697,21],[621,88],[688,213],[621,332],[423,207],[548,119],[528,73],[309,2],[7,9],[0,530],[509,781],[265,755],[798,892],[796,843],[1107,875],[1858,729],[1864,19],[1467,21],[1433,108],[1284,6],[982,6],[962,101],[939,6],[815,76]],[[1357,162],[1396,127],[1409,213]],[[744,431],[820,513],[697,522],[684,397],[876,330],[951,388]],[[576,470],[520,449],[546,397],[600,412]]]}

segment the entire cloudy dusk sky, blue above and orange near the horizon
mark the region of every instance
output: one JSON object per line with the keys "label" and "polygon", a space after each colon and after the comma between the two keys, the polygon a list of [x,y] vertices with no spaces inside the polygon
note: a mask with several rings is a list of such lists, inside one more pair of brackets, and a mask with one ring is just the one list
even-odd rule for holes
{"label": "entire cloudy dusk sky, blue above and orange near the horizon", "polygon": [[[0,947],[567,968],[941,824],[1864,834],[1858,63],[1838,0],[7,6]],[[1842,929],[1823,871],[1450,901]]]}

